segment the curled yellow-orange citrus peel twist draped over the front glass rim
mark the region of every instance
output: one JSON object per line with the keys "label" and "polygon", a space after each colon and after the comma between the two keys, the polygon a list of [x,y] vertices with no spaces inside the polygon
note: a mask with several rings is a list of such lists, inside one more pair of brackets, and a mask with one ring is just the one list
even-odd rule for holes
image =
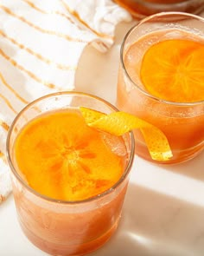
{"label": "curled yellow-orange citrus peel twist draped over the front glass rim", "polygon": [[122,111],[105,115],[91,108],[80,107],[88,126],[103,130],[112,135],[124,135],[132,129],[139,128],[143,134],[150,156],[156,161],[168,161],[172,157],[169,142],[163,132],[150,124]]}

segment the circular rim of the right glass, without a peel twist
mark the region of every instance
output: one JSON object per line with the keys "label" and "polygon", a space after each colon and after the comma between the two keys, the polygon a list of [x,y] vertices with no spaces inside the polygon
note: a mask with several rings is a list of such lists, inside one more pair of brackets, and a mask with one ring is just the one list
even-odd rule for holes
{"label": "circular rim of the right glass, without a peel twist", "polygon": [[121,66],[122,69],[124,70],[124,74],[126,75],[126,77],[130,80],[130,82],[137,87],[137,89],[143,93],[143,95],[148,96],[149,98],[151,98],[152,100],[156,101],[156,102],[161,102],[167,105],[173,105],[173,106],[177,106],[177,107],[193,107],[193,106],[198,106],[198,105],[202,105],[204,104],[204,100],[199,101],[199,102],[171,102],[171,101],[167,101],[167,100],[163,100],[162,98],[156,97],[155,95],[151,95],[148,91],[142,89],[136,82],[134,82],[131,78],[131,75],[129,75],[127,69],[125,68],[125,64],[124,64],[124,45],[127,41],[127,39],[129,38],[129,36],[131,36],[131,33],[134,30],[137,30],[138,27],[140,27],[143,23],[149,22],[152,18],[154,18],[155,16],[172,16],[172,15],[176,15],[176,16],[187,16],[187,17],[191,17],[197,20],[201,20],[201,22],[203,22],[204,25],[204,17],[201,16],[196,16],[194,14],[190,14],[190,13],[186,13],[186,12],[182,12],[182,11],[163,11],[160,13],[156,13],[150,16],[147,16],[145,18],[143,18],[143,20],[139,21],[137,24],[133,25],[133,27],[131,27],[130,30],[128,30],[128,32],[125,34],[123,42],[121,44],[121,48],[120,48],[120,62],[121,62]]}

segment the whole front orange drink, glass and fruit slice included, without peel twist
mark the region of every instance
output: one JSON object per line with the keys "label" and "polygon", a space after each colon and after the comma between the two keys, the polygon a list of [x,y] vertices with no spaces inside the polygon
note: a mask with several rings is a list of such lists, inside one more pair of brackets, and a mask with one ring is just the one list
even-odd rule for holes
{"label": "whole front orange drink, glass and fruit slice included, without peel twist", "polygon": [[132,133],[114,136],[88,127],[81,106],[117,111],[93,95],[46,95],[22,109],[7,140],[22,231],[53,255],[85,255],[109,240],[134,156]]}

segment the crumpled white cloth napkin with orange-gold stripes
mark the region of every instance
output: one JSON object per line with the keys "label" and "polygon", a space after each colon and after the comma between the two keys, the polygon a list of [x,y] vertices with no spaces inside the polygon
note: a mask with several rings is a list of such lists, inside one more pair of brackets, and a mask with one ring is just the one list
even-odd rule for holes
{"label": "crumpled white cloth napkin with orange-gold stripes", "polygon": [[1,0],[0,202],[11,192],[6,137],[25,105],[48,93],[74,89],[86,45],[105,51],[131,15],[111,0]]}

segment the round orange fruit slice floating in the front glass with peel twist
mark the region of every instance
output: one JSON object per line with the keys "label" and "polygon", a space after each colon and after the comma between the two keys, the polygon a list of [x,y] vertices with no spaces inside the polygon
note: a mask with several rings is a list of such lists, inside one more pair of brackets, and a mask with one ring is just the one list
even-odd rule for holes
{"label": "round orange fruit slice floating in the front glass with peel twist", "polygon": [[127,152],[118,154],[118,144],[118,150],[125,148],[122,138],[88,127],[80,111],[50,112],[22,129],[16,162],[40,194],[84,200],[112,187],[124,173]]}

